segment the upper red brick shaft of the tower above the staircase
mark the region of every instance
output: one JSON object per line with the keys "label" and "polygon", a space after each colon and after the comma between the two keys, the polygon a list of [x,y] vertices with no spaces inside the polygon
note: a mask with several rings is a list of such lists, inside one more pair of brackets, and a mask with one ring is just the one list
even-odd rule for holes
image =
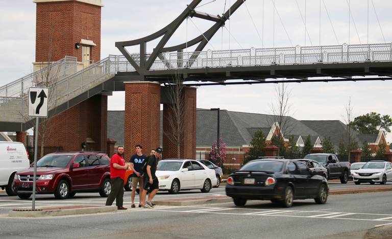
{"label": "upper red brick shaft of the tower above the staircase", "polygon": [[81,39],[92,40],[90,59],[101,58],[101,7],[76,1],[37,3],[36,62],[54,62],[65,55],[82,61]]}

